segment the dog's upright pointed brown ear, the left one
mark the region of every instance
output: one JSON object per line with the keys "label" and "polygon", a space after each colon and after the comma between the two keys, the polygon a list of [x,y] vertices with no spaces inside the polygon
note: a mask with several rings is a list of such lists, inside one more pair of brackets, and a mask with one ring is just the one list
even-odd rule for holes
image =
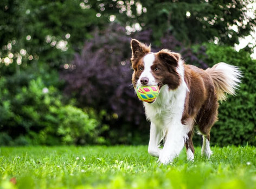
{"label": "dog's upright pointed brown ear, the left one", "polygon": [[131,60],[134,60],[135,58],[143,57],[151,51],[150,46],[146,46],[145,44],[140,43],[136,39],[131,40],[131,49],[132,49]]}

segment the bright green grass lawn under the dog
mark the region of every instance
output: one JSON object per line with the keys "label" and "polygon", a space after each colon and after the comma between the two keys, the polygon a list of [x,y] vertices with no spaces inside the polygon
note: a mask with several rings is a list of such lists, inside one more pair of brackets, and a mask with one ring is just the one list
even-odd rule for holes
{"label": "bright green grass lawn under the dog", "polygon": [[2,147],[0,188],[256,188],[256,147],[200,150],[165,166],[147,146]]}

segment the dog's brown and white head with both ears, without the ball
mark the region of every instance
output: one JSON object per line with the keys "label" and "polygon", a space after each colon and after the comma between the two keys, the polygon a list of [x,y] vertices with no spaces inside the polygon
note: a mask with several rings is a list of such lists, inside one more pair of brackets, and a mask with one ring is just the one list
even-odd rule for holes
{"label": "dog's brown and white head with both ears, without the ball", "polygon": [[158,85],[160,89],[163,85],[168,85],[170,90],[174,90],[180,85],[180,72],[183,72],[179,66],[180,54],[166,49],[153,53],[150,46],[136,39],[131,40],[131,49],[134,87]]}

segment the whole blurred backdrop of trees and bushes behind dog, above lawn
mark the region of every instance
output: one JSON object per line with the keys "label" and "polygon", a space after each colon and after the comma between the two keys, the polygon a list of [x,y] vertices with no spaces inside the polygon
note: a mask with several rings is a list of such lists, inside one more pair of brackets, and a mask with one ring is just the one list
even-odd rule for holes
{"label": "whole blurred backdrop of trees and bushes behind dog, above lawn", "polygon": [[[254,0],[1,0],[0,145],[147,144],[130,40],[244,78],[212,144],[256,145]],[[194,137],[196,144],[201,138]]]}

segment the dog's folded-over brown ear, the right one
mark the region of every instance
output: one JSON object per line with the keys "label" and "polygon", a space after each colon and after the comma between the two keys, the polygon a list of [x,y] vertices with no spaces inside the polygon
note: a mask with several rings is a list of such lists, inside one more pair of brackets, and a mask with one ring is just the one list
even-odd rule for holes
{"label": "dog's folded-over brown ear, the right one", "polygon": [[174,66],[178,65],[178,60],[181,58],[179,53],[171,52],[167,49],[159,51],[157,55],[163,62]]}

